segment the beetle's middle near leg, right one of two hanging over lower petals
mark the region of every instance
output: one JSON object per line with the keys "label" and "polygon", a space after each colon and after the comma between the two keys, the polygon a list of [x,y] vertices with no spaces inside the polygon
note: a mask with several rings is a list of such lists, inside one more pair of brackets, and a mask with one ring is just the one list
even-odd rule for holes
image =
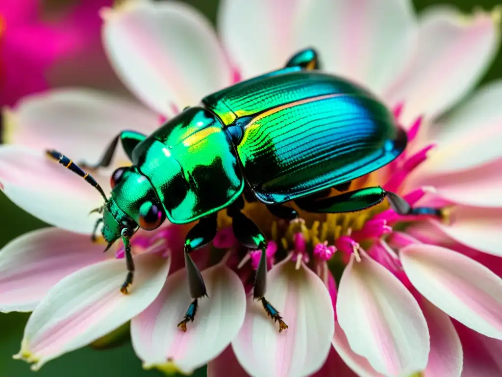
{"label": "beetle's middle near leg, right one of two hanging over lower petals", "polygon": [[288,325],[283,321],[279,312],[265,299],[267,291],[267,241],[265,236],[258,226],[248,219],[240,210],[231,209],[228,215],[232,218],[232,229],[235,238],[244,246],[261,250],[260,262],[256,270],[255,288],[253,297],[255,300],[261,301],[267,314],[274,320],[279,322],[279,332],[288,328]]}

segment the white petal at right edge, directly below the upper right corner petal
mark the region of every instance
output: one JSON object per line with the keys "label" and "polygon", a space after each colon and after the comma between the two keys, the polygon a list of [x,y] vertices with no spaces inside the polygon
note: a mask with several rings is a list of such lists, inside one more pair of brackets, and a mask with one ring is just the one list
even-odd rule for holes
{"label": "white petal at right edge, directly below the upper right corner petal", "polygon": [[[486,85],[428,130],[438,146],[423,166],[428,173],[463,171],[502,158],[502,80]],[[494,174],[497,172],[493,172]]]}

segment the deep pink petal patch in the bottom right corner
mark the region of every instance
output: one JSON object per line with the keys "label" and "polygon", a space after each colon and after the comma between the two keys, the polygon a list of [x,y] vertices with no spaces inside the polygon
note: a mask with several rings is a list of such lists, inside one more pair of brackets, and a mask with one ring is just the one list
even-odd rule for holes
{"label": "deep pink petal patch in the bottom right corner", "polygon": [[502,375],[502,341],[488,338],[454,321],[464,353],[461,377],[499,377]]}

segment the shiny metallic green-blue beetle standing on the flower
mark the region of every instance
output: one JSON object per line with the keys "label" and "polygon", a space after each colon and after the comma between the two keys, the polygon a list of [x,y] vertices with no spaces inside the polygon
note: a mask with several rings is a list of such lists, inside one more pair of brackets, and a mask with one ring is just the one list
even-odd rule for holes
{"label": "shiny metallic green-blue beetle standing on the flower", "polygon": [[[185,242],[185,263],[193,298],[179,327],[193,321],[197,299],[206,295],[202,276],[190,257],[216,234],[216,214],[226,209],[236,238],[261,249],[254,297],[267,313],[287,328],[265,299],[266,239],[241,212],[244,192],[266,204],[281,218],[297,213],[290,201],[315,213],[359,211],[388,198],[400,214],[437,211],[410,208],[381,187],[349,192],[350,181],[394,160],[406,147],[406,134],[382,102],[354,83],[318,70],[314,50],[296,54],[286,67],[213,93],[197,107],[186,108],[150,136],[124,131],[109,145],[99,163],[108,166],[118,140],[133,166],[118,168],[111,177],[108,200],[101,187],[69,158],[47,153],[94,185],[105,199],[95,230],[111,246],[121,238],[128,267],[121,287],[133,282],[130,238],[140,226],[199,222]],[[88,166],[88,165],[87,165]],[[319,198],[335,187],[336,197]],[[315,195],[313,195],[315,194]],[[247,198],[247,197],[246,197]]]}

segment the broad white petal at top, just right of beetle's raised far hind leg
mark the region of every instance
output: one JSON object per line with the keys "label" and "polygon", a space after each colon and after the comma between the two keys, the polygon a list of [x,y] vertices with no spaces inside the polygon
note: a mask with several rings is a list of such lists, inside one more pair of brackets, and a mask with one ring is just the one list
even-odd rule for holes
{"label": "broad white petal at top, just right of beetle's raised far hind leg", "polygon": [[410,59],[415,31],[407,0],[317,0],[301,10],[295,47],[315,47],[323,69],[380,94]]}

